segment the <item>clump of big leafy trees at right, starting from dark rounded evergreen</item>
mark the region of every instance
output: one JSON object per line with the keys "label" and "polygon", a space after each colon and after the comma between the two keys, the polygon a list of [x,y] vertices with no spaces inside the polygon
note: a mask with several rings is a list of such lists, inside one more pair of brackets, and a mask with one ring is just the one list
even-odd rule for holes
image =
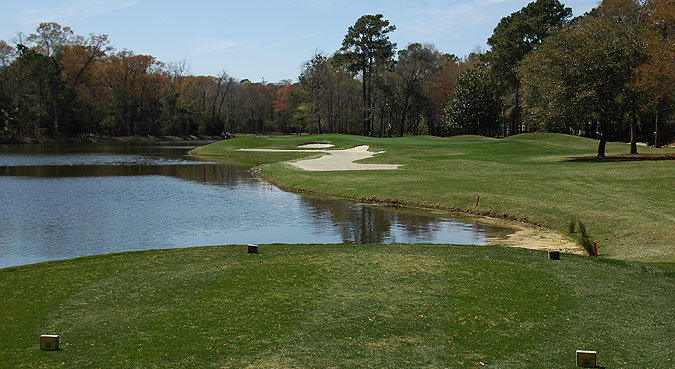
{"label": "clump of big leafy trees at right, starting from dark rounded evergreen", "polygon": [[[448,122],[585,135],[599,139],[598,156],[608,140],[631,142],[631,154],[638,140],[671,142],[674,26],[672,0],[604,0],[576,18],[556,0],[532,2],[495,27],[490,50],[460,78]],[[466,112],[479,110],[476,92],[493,97],[480,121]]]}

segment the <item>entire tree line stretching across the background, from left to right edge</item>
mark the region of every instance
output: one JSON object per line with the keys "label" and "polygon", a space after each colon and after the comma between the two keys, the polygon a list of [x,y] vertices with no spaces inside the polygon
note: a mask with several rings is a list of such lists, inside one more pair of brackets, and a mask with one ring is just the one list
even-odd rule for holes
{"label": "entire tree line stretching across the background, from left to right edge", "polygon": [[397,50],[381,14],[317,51],[298,81],[254,83],[116,50],[42,23],[0,40],[0,137],[552,131],[659,145],[673,138],[672,0],[604,0],[582,16],[537,0],[499,22],[489,50]]}

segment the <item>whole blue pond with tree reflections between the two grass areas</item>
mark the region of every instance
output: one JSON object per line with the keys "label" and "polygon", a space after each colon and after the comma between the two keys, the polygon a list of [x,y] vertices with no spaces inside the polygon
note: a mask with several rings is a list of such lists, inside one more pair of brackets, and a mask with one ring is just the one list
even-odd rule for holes
{"label": "whole blue pond with tree reflections between the two grass areas", "polygon": [[247,243],[484,244],[498,227],[288,193],[202,143],[0,145],[0,268]]}

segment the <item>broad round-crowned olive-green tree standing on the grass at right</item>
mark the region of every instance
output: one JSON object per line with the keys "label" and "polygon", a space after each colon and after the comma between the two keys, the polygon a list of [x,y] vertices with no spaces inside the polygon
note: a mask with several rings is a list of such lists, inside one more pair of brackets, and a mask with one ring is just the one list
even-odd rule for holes
{"label": "broad round-crowned olive-green tree standing on the grass at right", "polygon": [[548,127],[587,123],[587,130],[599,134],[598,157],[620,129],[633,70],[642,60],[639,35],[624,21],[602,13],[576,19],[518,68],[529,118]]}

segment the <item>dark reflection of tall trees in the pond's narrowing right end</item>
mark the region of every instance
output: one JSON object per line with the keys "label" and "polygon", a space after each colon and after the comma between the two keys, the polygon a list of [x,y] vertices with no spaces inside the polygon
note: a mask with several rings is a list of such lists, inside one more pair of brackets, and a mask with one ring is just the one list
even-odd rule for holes
{"label": "dark reflection of tall trees in the pond's narrowing right end", "polygon": [[[431,216],[398,213],[341,201],[303,197],[301,202],[318,226],[329,221],[338,229],[343,242],[429,242],[436,239],[434,232],[444,221]],[[395,232],[395,227],[400,232]],[[397,239],[397,235],[403,239]]]}

